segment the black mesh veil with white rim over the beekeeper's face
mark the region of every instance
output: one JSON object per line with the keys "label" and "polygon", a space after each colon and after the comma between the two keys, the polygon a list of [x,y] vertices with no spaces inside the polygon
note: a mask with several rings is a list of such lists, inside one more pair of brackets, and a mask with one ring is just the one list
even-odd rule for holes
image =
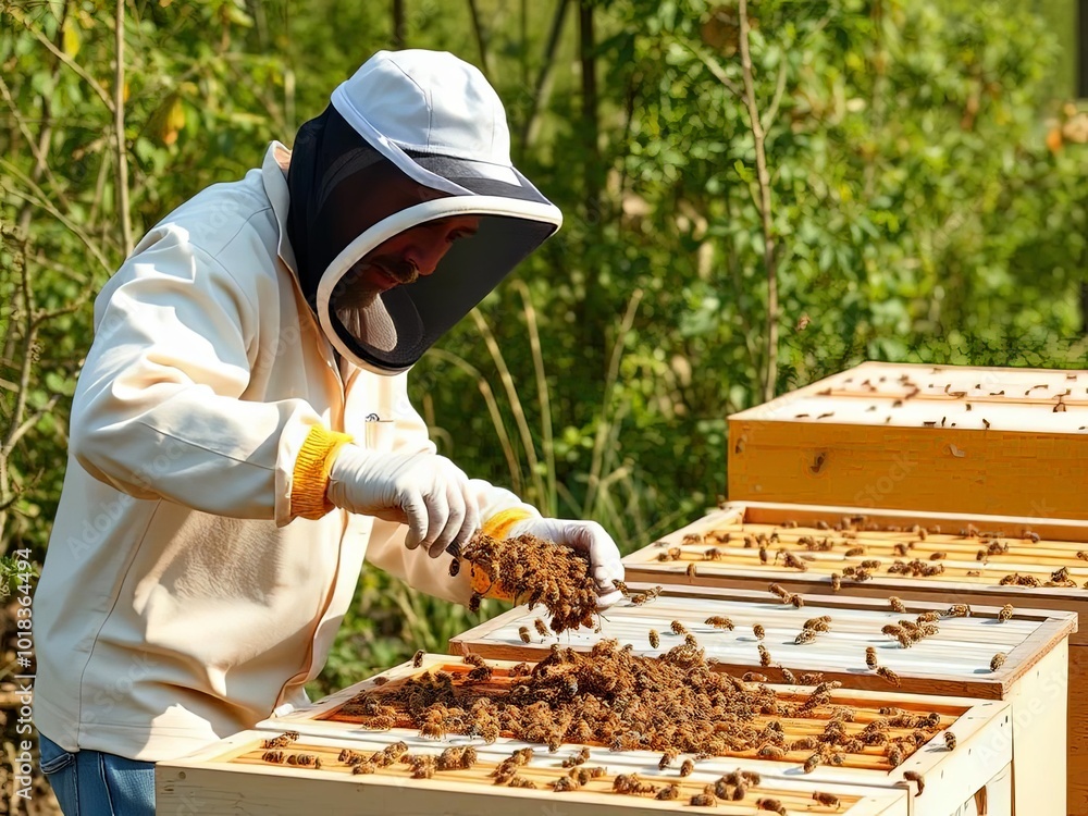
{"label": "black mesh veil with white rim over the beekeeper's face", "polygon": [[[299,131],[288,171],[287,228],[302,292],[337,350],[385,374],[417,362],[560,222],[512,168],[406,156],[465,195],[409,177],[331,107]],[[382,252],[386,242],[452,219],[475,232],[450,245],[432,274],[387,289],[368,285],[375,269],[396,269]]]}

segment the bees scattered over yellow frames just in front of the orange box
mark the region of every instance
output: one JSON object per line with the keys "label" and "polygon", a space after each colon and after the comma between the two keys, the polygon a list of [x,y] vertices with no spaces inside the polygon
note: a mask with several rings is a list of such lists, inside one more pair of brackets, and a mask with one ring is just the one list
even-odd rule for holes
{"label": "bees scattered over yellow frames just in front of the orange box", "polygon": [[[1030,558],[1030,549],[1013,551],[1013,541],[1019,539],[1024,544],[1038,544],[1040,535],[1031,530],[1021,531],[1016,535],[1006,535],[1003,530],[979,530],[975,524],[967,524],[954,534],[961,540],[956,544],[957,552],[927,552],[919,553],[911,557],[912,551],[930,540],[931,535],[942,534],[940,526],[929,528],[914,524],[907,528],[894,524],[878,524],[868,520],[863,515],[844,516],[833,526],[825,520],[818,520],[812,528],[800,528],[796,521],[784,520],[780,523],[780,529],[769,532],[733,532],[733,531],[706,531],[703,533],[688,533],[683,536],[679,545],[670,545],[666,541],[655,542],[655,546],[663,552],[658,553],[658,561],[681,561],[688,560],[685,573],[689,580],[698,577],[700,561],[714,562],[721,561],[727,557],[735,558],[735,552],[728,552],[729,548],[743,548],[755,551],[758,555],[759,566],[807,572],[812,565],[820,561],[820,567],[827,568],[838,561],[828,561],[826,556],[818,554],[833,554],[841,556],[841,560],[850,559],[849,564],[841,567],[841,570],[831,572],[831,589],[838,592],[842,588],[843,581],[862,583],[871,580],[881,570],[889,576],[902,576],[904,578],[934,578],[945,574],[947,559],[973,559],[975,565],[989,568],[991,558],[999,556],[1016,555],[1017,552],[1024,557]],[[787,532],[796,531],[796,532]],[[866,541],[863,536],[867,532],[904,533],[904,540],[899,542],[874,542]],[[1013,540],[1013,541],[1011,541]],[[963,549],[964,542],[977,542],[977,549],[974,553]],[[692,559],[691,549],[704,547]],[[928,548],[927,548],[928,549]],[[874,552],[878,551],[878,552]],[[885,560],[890,553],[891,562]],[[867,557],[881,555],[885,557]],[[1088,561],[1088,551],[1078,551],[1076,559]],[[1049,571],[1049,570],[1048,570]],[[968,578],[979,578],[984,574],[982,569],[965,569],[964,574]],[[996,577],[997,578],[997,577]],[[1061,566],[1049,576],[1041,578],[1034,574],[1021,572],[1010,572],[997,580],[1002,586],[1049,586],[1076,589],[1080,586],[1070,572],[1070,565]],[[1083,584],[1088,589],[1088,581]]]}

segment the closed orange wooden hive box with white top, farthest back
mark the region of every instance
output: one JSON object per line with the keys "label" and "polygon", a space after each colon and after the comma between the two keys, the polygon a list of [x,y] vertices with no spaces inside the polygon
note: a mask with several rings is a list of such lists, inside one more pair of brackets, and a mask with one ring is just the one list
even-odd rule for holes
{"label": "closed orange wooden hive box with white top, farthest back", "polygon": [[729,417],[729,498],[1088,518],[1088,371],[866,362]]}

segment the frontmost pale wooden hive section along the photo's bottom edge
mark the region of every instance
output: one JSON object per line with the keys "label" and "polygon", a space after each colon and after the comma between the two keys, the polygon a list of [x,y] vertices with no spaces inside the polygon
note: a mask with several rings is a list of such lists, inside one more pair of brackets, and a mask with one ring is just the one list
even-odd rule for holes
{"label": "frontmost pale wooden hive section along the photo's bottom edge", "polygon": [[[393,813],[442,813],[450,816],[510,816],[540,808],[568,816],[598,816],[602,807],[625,816],[652,816],[662,812],[707,812],[692,808],[690,796],[701,792],[714,776],[695,771],[680,779],[668,777],[653,768],[645,778],[656,784],[677,782],[682,796],[675,802],[658,802],[651,796],[621,796],[610,791],[617,772],[632,769],[633,764],[616,764],[606,757],[611,775],[592,780],[578,791],[556,793],[545,786],[566,774],[556,756],[535,756],[519,776],[541,786],[536,790],[496,787],[490,772],[514,744],[507,742],[478,747],[480,761],[470,770],[437,771],[431,779],[411,779],[403,765],[383,768],[367,776],[353,776],[350,768],[337,762],[339,752],[381,751],[399,739],[410,742],[412,753],[435,755],[442,746],[425,744],[410,732],[380,732],[358,739],[304,737],[292,747],[320,756],[322,768],[270,765],[261,761],[267,731],[243,731],[184,759],[159,763],[156,767],[156,812],[160,816],[201,816],[261,813],[265,816],[294,816],[312,813],[320,802],[323,816],[387,816]],[[520,743],[518,743],[520,744]],[[592,761],[594,764],[597,759]],[[641,766],[638,766],[641,768]],[[744,763],[737,768],[749,769]],[[993,783],[987,789],[997,792]],[[813,793],[832,794],[839,807],[820,806]],[[806,778],[767,779],[749,792],[743,802],[718,802],[714,813],[726,816],[756,814],[758,796],[779,800],[787,812],[795,814],[840,814],[842,816],[910,816],[912,791],[906,788],[869,788],[858,784],[820,782]],[[763,811],[762,813],[767,813]]]}

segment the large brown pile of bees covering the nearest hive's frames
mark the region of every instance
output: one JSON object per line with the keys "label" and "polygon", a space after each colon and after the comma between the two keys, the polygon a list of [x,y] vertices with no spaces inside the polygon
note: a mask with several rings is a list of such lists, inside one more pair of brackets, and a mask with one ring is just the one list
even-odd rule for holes
{"label": "large brown pile of bees covering the nearest hive's frames", "polygon": [[[817,630],[820,622],[827,623],[814,621]],[[718,618],[712,626],[728,629],[731,623]],[[793,678],[811,688],[776,690],[755,672],[737,678],[716,671],[695,638],[678,631],[679,621],[672,630],[684,641],[657,657],[638,655],[631,645],[614,640],[598,641],[589,653],[554,644],[539,663],[508,669],[493,668],[470,653],[460,664],[431,667],[395,688],[368,689],[337,716],[367,729],[413,728],[435,740],[460,734],[492,743],[509,737],[545,745],[549,752],[567,744],[656,751],[659,770],[675,769],[680,778],[700,762],[725,756],[798,762],[804,772],[820,765],[868,767],[881,761],[893,768],[949,725],[935,712],[839,704],[836,691],[841,683],[819,675]],[[954,744],[951,732],[945,733]],[[582,749],[565,759],[568,772],[551,782],[554,790],[577,790],[597,779],[603,771],[585,768],[588,758],[589,750]],[[517,781],[524,778],[518,767],[517,756],[500,764],[493,774],[495,783],[529,787]],[[924,781],[916,781],[920,789]],[[620,775],[613,790],[678,799],[683,791],[679,784]],[[689,790],[684,795],[690,793],[691,804],[740,801],[750,787],[751,780],[727,775],[702,792]],[[768,806],[774,800],[761,801],[765,804],[757,802],[757,807],[778,809]]]}

